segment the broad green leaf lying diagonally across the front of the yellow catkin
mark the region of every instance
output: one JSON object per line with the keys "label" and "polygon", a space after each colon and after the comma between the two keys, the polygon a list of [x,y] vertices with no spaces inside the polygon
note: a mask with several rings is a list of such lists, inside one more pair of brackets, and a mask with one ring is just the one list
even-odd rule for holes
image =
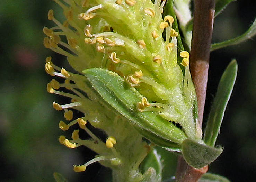
{"label": "broad green leaf lying diagonally across the front of the yellow catkin", "polygon": [[136,104],[142,95],[130,87],[123,78],[109,70],[93,68],[84,70],[89,87],[99,95],[103,104],[107,103],[115,111],[131,121],[135,128],[152,142],[180,151],[185,133],[171,122],[163,119],[155,111],[139,112]]}

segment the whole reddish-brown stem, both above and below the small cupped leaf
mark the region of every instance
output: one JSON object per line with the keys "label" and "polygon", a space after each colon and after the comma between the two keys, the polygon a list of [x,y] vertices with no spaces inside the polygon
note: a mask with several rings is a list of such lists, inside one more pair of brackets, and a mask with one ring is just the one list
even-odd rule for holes
{"label": "whole reddish-brown stem, both above and below the small cupped leaf", "polygon": [[[215,13],[215,0],[194,0],[194,25],[190,56],[190,71],[198,102],[198,121],[202,127],[208,79],[210,48]],[[176,182],[197,182],[208,166],[196,169],[179,156]]]}

